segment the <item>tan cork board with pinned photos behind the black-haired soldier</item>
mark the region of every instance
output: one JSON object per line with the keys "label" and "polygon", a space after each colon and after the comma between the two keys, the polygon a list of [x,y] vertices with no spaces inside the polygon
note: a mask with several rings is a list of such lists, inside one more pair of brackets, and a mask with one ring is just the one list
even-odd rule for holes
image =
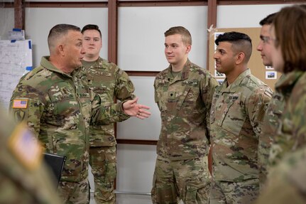
{"label": "tan cork board with pinned photos behind the black-haired soldier", "polygon": [[214,32],[209,34],[209,72],[216,77],[219,82],[222,82],[225,79],[225,75],[222,73],[218,73],[215,69],[214,62],[214,50],[216,49],[216,45],[214,44],[215,38],[220,33],[236,31],[240,33],[246,33],[250,36],[252,40],[252,55],[250,60],[248,61],[248,68],[251,70],[252,75],[258,77],[258,79],[262,80],[266,83],[272,90],[274,90],[275,82],[280,77],[280,73],[277,73],[273,68],[266,67],[263,65],[263,60],[261,59],[261,53],[256,50],[257,45],[260,41],[260,33],[261,28],[217,28],[214,29]]}

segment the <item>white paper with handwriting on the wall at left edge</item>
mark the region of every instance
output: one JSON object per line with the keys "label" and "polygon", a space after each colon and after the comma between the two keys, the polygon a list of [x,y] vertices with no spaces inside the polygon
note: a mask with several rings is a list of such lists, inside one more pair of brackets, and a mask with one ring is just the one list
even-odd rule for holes
{"label": "white paper with handwriting on the wall at left edge", "polygon": [[32,68],[32,41],[0,41],[0,104],[9,101],[26,69]]}

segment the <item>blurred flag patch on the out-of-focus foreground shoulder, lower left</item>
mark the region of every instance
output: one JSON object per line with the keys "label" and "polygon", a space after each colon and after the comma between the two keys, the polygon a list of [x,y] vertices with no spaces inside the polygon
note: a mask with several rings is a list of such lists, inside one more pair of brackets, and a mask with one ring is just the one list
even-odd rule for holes
{"label": "blurred flag patch on the out-of-focus foreground shoulder, lower left", "polygon": [[9,137],[9,149],[29,170],[38,168],[43,159],[43,147],[24,124],[19,124]]}

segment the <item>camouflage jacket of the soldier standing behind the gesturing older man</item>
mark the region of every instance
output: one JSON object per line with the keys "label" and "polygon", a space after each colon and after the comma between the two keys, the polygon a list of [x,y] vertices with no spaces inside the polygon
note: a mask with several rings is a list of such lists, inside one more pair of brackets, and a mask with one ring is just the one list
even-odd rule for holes
{"label": "camouflage jacket of the soldier standing behind the gesturing older man", "polygon": [[[82,68],[82,73],[90,89],[100,97],[102,104],[109,106],[114,100],[126,101],[135,97],[133,83],[129,76],[117,65],[102,58],[98,58],[97,63],[90,68]],[[92,104],[97,101],[92,99]],[[124,121],[129,116],[117,117],[116,122]],[[116,139],[114,136],[114,124],[91,125],[89,128],[90,146],[114,146]]]}

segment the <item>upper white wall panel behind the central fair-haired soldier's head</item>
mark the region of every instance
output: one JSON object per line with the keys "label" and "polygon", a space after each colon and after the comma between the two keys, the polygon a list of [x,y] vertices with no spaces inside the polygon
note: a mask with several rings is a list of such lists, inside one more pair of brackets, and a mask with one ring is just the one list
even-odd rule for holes
{"label": "upper white wall panel behind the central fair-haired soldier's head", "polygon": [[184,26],[190,31],[190,60],[206,67],[207,6],[121,7],[118,16],[118,64],[122,69],[167,68],[164,33],[173,26]]}

